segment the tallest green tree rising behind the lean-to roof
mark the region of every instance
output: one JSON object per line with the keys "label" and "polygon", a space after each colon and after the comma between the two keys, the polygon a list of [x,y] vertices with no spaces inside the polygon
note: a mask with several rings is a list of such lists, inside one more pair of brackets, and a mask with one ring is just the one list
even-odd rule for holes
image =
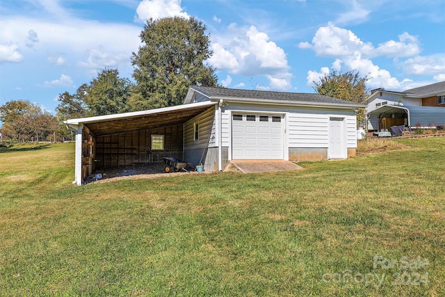
{"label": "tallest green tree rising behind the lean-to roof", "polygon": [[216,86],[215,70],[206,63],[213,53],[205,30],[193,17],[147,21],[140,33],[143,45],[131,58],[136,79],[133,110],[181,104],[191,85]]}

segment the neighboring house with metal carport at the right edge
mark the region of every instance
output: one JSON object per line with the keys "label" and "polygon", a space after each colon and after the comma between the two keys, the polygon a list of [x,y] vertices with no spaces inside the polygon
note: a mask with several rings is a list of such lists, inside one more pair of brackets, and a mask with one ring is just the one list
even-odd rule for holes
{"label": "neighboring house with metal carport at the right edge", "polygon": [[403,92],[371,91],[366,100],[368,131],[381,131],[392,126],[408,128],[445,125],[445,81]]}

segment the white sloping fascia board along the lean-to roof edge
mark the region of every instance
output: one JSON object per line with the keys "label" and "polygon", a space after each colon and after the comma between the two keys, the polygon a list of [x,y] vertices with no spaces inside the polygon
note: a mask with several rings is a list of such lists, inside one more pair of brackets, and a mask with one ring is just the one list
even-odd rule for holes
{"label": "white sloping fascia board along the lean-to roof edge", "polygon": [[181,104],[177,106],[162,107],[160,109],[149,109],[147,111],[133,111],[131,113],[117,113],[112,115],[98,115],[90,118],[76,118],[64,121],[65,124],[78,125],[79,123],[92,123],[92,122],[103,122],[106,120],[122,120],[125,118],[135,118],[141,115],[154,115],[156,113],[165,113],[166,111],[181,111],[185,109],[194,109],[198,107],[211,106],[216,104],[216,102],[196,102],[189,104]]}

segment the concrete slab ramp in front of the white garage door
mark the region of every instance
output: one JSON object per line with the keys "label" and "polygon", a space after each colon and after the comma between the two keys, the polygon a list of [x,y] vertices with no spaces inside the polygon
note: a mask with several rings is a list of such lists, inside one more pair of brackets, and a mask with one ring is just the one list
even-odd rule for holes
{"label": "concrete slab ramp in front of the white garage door", "polygon": [[296,163],[283,160],[232,160],[230,164],[242,173],[302,169]]}

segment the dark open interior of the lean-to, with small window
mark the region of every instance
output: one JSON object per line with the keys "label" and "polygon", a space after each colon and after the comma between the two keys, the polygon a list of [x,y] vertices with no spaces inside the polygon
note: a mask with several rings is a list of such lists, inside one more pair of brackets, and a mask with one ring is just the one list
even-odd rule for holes
{"label": "dark open interior of the lean-to, with small window", "polygon": [[184,123],[209,108],[83,122],[82,178],[98,170],[160,164],[163,157],[184,159]]}

